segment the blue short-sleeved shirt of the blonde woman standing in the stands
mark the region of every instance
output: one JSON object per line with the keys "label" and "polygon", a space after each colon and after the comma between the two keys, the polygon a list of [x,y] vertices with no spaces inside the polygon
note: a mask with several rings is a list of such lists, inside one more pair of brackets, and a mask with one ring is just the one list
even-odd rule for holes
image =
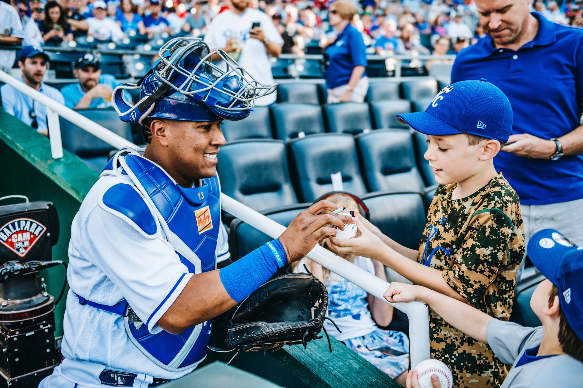
{"label": "blue short-sleeved shirt of the blonde woman standing in the stands", "polygon": [[[351,24],[338,34],[335,43],[326,47],[325,53],[328,55],[326,69],[328,89],[348,84],[354,67],[367,65],[363,37]],[[366,76],[366,73],[363,76]]]}

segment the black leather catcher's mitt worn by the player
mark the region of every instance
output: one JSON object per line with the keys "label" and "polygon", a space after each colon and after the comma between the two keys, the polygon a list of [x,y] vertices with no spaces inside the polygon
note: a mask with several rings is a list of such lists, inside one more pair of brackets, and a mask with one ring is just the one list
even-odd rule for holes
{"label": "black leather catcher's mitt worn by the player", "polygon": [[237,306],[227,323],[225,343],[238,351],[272,352],[300,343],[305,348],[308,341],[322,338],[318,334],[329,319],[327,309],[326,287],[311,273],[276,277]]}

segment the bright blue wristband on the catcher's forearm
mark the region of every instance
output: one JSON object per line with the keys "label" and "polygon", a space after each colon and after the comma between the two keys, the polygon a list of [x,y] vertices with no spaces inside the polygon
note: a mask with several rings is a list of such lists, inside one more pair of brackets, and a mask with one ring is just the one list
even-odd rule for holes
{"label": "bright blue wristband on the catcher's forearm", "polygon": [[287,255],[283,245],[275,239],[220,269],[219,277],[229,296],[241,302],[286,263]]}

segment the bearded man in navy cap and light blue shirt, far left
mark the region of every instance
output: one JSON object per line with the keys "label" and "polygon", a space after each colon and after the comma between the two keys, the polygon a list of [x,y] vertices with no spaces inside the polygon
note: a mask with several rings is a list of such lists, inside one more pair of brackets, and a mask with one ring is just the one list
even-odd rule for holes
{"label": "bearded man in navy cap and light blue shirt, far left", "polygon": [[[18,67],[22,71],[20,82],[26,83],[31,88],[52,98],[52,100],[64,104],[65,101],[61,92],[43,83],[48,61],[48,55],[42,48],[23,47],[18,57]],[[48,136],[47,108],[43,104],[34,103],[31,97],[26,96],[26,94],[21,93],[10,85],[0,87],[0,93],[2,94],[2,105],[6,112],[20,119],[24,124],[30,125],[37,132]]]}

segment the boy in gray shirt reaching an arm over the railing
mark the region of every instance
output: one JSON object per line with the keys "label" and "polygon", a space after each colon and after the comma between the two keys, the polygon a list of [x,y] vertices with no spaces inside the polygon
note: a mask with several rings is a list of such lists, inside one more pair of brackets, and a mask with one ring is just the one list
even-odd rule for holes
{"label": "boy in gray shirt reaching an arm over the railing", "polygon": [[[578,388],[583,382],[583,247],[545,229],[528,243],[528,255],[546,276],[532,294],[531,308],[542,326],[522,327],[494,319],[472,306],[418,285],[391,283],[389,302],[421,301],[449,324],[490,345],[512,369],[501,388]],[[431,376],[439,388],[437,376]],[[410,371],[407,388],[419,388]]]}

